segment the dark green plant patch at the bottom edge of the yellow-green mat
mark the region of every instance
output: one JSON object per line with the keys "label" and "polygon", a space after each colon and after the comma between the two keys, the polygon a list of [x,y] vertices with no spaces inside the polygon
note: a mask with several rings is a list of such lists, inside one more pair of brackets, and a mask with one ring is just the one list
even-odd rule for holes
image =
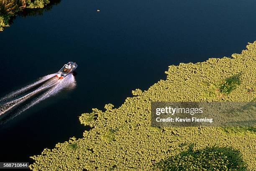
{"label": "dark green plant patch at the bottom edge of the yellow-green mat", "polygon": [[236,170],[246,171],[246,163],[241,158],[239,151],[230,147],[206,147],[193,150],[189,145],[187,151],[183,151],[166,160],[156,163],[156,170],[161,171],[186,171],[189,170]]}

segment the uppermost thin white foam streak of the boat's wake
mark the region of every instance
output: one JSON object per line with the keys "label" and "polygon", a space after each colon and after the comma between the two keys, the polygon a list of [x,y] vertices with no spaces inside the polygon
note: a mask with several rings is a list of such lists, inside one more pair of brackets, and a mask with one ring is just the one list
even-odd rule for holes
{"label": "uppermost thin white foam streak of the boat's wake", "polygon": [[56,74],[49,74],[49,75],[46,75],[44,77],[41,77],[40,79],[38,79],[38,81],[5,95],[4,97],[2,97],[0,99],[0,102],[5,102],[5,101],[8,101],[8,100],[12,100],[13,98],[15,98],[15,97],[17,97],[21,94],[24,94],[25,92],[27,92],[27,91],[35,88],[36,86],[42,84],[43,82],[47,81],[48,79],[51,79],[55,75]]}

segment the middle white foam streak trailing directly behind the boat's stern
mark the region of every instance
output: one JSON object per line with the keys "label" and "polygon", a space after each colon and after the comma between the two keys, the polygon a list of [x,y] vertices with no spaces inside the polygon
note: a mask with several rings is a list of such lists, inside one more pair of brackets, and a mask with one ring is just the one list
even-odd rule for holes
{"label": "middle white foam streak trailing directly behind the boat's stern", "polygon": [[13,109],[14,107],[20,105],[21,103],[25,102],[26,100],[30,99],[31,97],[33,97],[34,95],[49,89],[50,87],[53,87],[54,85],[56,85],[59,82],[59,79],[49,79],[46,83],[44,83],[42,86],[38,87],[36,90],[34,90],[33,92],[30,92],[26,95],[24,95],[23,97],[20,97],[16,100],[10,101],[5,103],[4,105],[0,106],[0,115],[4,114],[5,112],[8,112],[9,110]]}

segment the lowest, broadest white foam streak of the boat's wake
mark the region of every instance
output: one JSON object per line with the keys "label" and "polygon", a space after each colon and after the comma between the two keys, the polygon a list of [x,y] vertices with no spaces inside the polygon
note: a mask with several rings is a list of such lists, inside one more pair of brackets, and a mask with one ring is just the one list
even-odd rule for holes
{"label": "lowest, broadest white foam streak of the boat's wake", "polygon": [[74,76],[72,74],[68,75],[64,79],[61,79],[58,84],[55,84],[53,87],[51,87],[49,90],[47,90],[44,94],[37,97],[35,100],[33,100],[31,103],[23,107],[18,113],[24,112],[25,110],[31,108],[33,105],[36,105],[37,103],[41,102],[42,100],[47,99],[48,97],[51,97],[57,93],[59,93],[62,89],[73,89],[76,87],[77,83],[74,79]]}

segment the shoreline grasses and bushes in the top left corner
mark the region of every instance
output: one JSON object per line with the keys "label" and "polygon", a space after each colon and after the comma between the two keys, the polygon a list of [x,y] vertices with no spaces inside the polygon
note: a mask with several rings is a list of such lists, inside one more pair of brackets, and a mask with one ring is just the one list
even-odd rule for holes
{"label": "shoreline grasses and bushes in the top left corner", "polygon": [[0,0],[0,31],[9,27],[16,15],[42,14],[42,10],[51,9],[60,0]]}

